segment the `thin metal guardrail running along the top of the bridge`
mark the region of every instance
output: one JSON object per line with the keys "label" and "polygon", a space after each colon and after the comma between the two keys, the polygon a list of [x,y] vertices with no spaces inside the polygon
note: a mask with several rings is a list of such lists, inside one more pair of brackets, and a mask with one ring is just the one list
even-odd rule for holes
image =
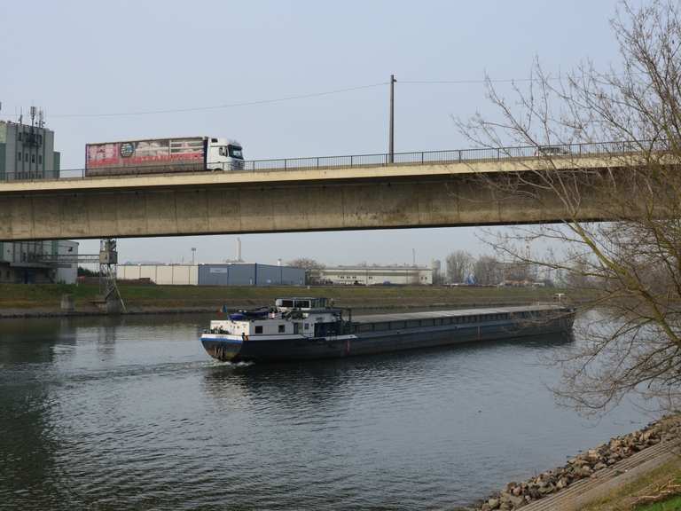
{"label": "thin metal guardrail running along the top of the bridge", "polygon": [[[153,174],[176,174],[192,172],[208,172],[210,169],[224,166],[224,171],[231,173],[267,172],[273,170],[304,170],[304,169],[347,169],[352,167],[387,167],[391,165],[431,165],[443,163],[457,163],[461,161],[497,161],[514,158],[552,158],[568,156],[584,156],[599,154],[638,153],[642,150],[665,150],[664,141],[651,142],[648,140],[622,142],[595,142],[589,144],[568,145],[522,145],[481,149],[454,149],[447,151],[422,151],[419,153],[395,153],[390,162],[388,153],[353,154],[348,156],[312,156],[307,158],[285,158],[278,160],[248,160],[232,163],[203,164],[174,163],[168,165],[146,165],[137,167],[119,167],[106,169],[62,169],[59,171],[61,179],[85,179],[111,176],[149,176]],[[243,163],[243,165],[240,165]],[[227,169],[226,167],[230,167]],[[235,168],[242,167],[242,168]],[[51,173],[38,171],[21,171],[0,174],[0,181],[37,181],[53,179]]]}

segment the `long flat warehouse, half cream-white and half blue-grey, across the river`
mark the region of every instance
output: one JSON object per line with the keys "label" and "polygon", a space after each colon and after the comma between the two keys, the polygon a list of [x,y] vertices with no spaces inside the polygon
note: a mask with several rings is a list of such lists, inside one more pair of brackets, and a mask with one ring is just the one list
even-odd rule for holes
{"label": "long flat warehouse, half cream-white and half blue-grey, across the river", "polygon": [[302,286],[305,270],[258,263],[119,264],[119,280],[160,286]]}

